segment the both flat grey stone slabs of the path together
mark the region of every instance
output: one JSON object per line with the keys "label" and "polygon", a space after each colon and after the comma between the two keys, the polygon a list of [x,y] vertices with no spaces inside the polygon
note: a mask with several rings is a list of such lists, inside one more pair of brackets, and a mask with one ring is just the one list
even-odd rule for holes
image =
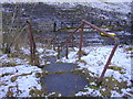
{"label": "both flat grey stone slabs of the path together", "polygon": [[[43,68],[49,74],[41,78],[42,89],[47,92],[60,92],[62,96],[74,96],[89,86],[82,73],[74,73],[75,64],[51,64]],[[51,74],[50,74],[51,73]]]}

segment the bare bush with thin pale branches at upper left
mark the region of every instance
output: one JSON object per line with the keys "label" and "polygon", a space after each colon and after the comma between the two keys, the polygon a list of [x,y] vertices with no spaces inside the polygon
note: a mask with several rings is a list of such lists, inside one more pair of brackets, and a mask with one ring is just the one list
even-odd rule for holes
{"label": "bare bush with thin pale branches at upper left", "polygon": [[[4,6],[3,6],[4,7]],[[22,40],[23,33],[27,32],[27,23],[22,22],[22,3],[8,4],[3,8],[3,53],[9,54],[12,46],[18,46],[18,41]]]}

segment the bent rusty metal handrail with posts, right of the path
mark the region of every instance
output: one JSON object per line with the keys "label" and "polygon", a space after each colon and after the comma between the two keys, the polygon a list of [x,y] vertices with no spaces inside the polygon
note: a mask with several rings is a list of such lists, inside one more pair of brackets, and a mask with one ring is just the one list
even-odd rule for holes
{"label": "bent rusty metal handrail with posts, right of the path", "polygon": [[[84,24],[88,24],[88,25],[90,25],[91,28],[95,29],[96,31],[102,32],[103,34],[105,34],[105,35],[109,36],[110,38],[114,40],[114,42],[115,42],[115,45],[114,45],[113,50],[111,51],[111,54],[110,54],[110,56],[109,56],[109,58],[108,58],[108,62],[106,62],[106,64],[105,64],[105,66],[104,66],[104,69],[103,69],[103,72],[102,72],[102,74],[101,74],[101,76],[100,76],[100,78],[99,78],[99,80],[98,80],[98,85],[100,85],[100,84],[102,82],[103,77],[104,77],[104,74],[105,74],[105,72],[106,72],[106,69],[108,69],[108,67],[109,67],[109,65],[110,65],[110,63],[111,63],[111,59],[112,59],[112,57],[113,57],[113,55],[114,55],[114,53],[115,53],[115,51],[116,51],[116,47],[119,46],[120,41],[119,41],[117,37],[114,37],[114,36],[110,35],[110,34],[108,34],[108,32],[105,32],[105,31],[101,30],[100,28],[91,24],[90,22],[86,22],[86,21],[83,20],[83,21],[82,21],[82,24],[79,25],[79,26],[73,31],[73,33],[66,38],[66,41],[68,41],[68,40],[70,41],[70,38],[75,34],[75,32],[76,32],[79,29],[81,29],[80,45],[79,45],[79,59],[80,59],[80,57],[81,57],[82,37],[83,37],[83,36],[82,36],[82,33],[83,33],[83,26],[84,26]],[[65,42],[66,42],[66,41],[65,41]]]}

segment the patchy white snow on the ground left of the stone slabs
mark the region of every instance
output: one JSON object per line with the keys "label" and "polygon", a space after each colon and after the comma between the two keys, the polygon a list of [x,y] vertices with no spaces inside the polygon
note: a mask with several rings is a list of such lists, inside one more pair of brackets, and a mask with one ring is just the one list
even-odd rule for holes
{"label": "patchy white snow on the ground left of the stone slabs", "polygon": [[[16,53],[17,51],[13,52]],[[21,47],[21,52],[25,55],[30,55],[28,48]],[[49,64],[49,62],[44,63],[45,59],[42,56],[55,55],[52,50],[45,50],[47,54],[44,54],[43,48],[38,48],[38,52],[42,65]],[[37,74],[40,73],[42,73],[42,69],[38,66],[29,65],[29,62],[25,58],[14,58],[3,54],[0,56],[0,98],[6,96],[31,97],[30,91],[41,90],[40,78],[37,77]],[[54,94],[52,92],[48,96]],[[48,96],[45,95],[45,97]]]}

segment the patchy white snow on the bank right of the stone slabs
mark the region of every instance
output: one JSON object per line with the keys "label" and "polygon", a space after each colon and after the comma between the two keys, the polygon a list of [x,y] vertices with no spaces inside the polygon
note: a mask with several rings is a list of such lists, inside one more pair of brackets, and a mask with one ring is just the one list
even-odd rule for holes
{"label": "patchy white snow on the bank right of the stone slabs", "polygon": [[[63,63],[76,63],[79,66],[79,69],[88,69],[90,75],[92,77],[100,77],[104,65],[108,61],[108,57],[111,53],[113,46],[88,46],[83,47],[83,52],[85,52],[88,55],[82,56],[81,59],[82,62],[76,62],[78,61],[78,48],[75,48],[74,52],[70,52],[69,54],[69,59],[65,57],[61,58],[58,62],[63,62]],[[126,81],[126,86],[131,86],[131,76],[133,70],[131,68],[131,51],[125,51],[125,48],[129,46],[123,46],[119,47],[113,56],[113,59],[111,62],[110,66],[114,67],[120,67],[122,68],[121,72],[119,69],[108,69],[104,77],[112,77],[117,80],[119,82]],[[83,72],[84,73],[84,72]],[[91,82],[92,85],[96,85],[95,82]],[[88,91],[79,91],[75,94],[75,96],[82,96],[82,95],[90,95],[91,96],[101,96],[100,90],[103,90],[102,88],[100,90],[91,89],[90,87],[84,88]],[[130,95],[129,91],[131,91],[131,88],[122,88],[121,89],[122,94],[116,92],[115,90],[111,90],[111,96],[112,97],[122,97],[125,94]]]}

